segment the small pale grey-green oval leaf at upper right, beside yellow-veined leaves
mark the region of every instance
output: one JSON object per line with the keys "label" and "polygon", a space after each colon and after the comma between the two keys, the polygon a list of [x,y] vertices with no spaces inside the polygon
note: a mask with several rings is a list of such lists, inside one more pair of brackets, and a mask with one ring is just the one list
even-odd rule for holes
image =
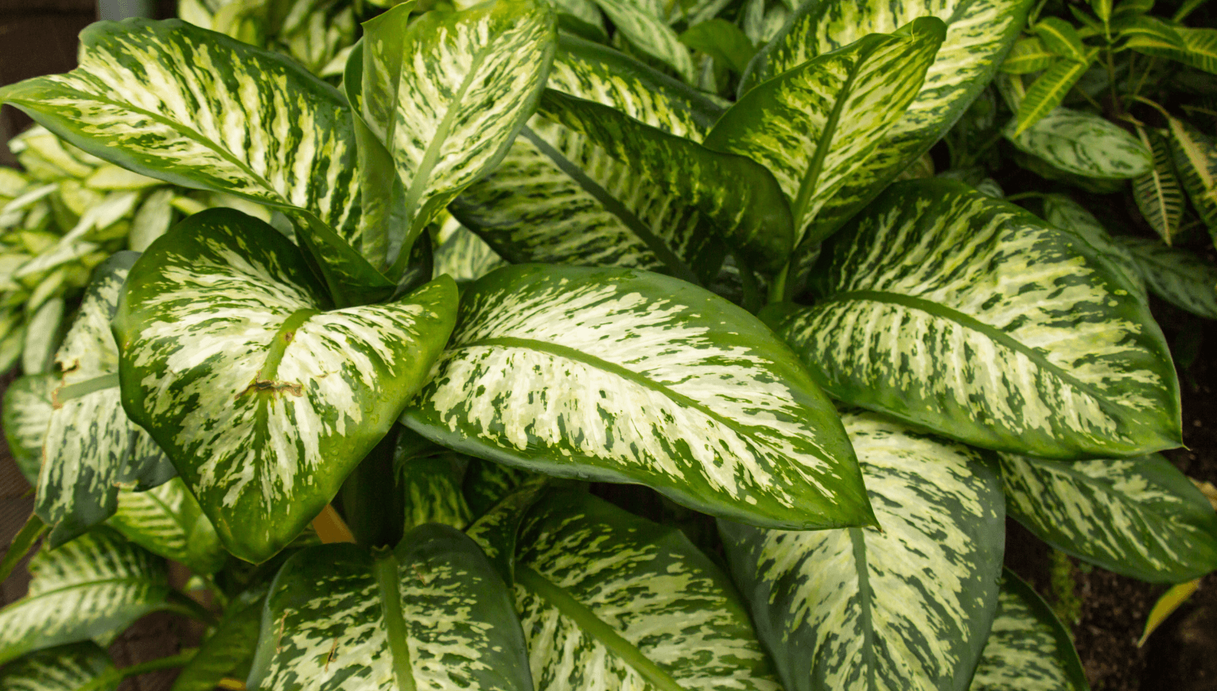
{"label": "small pale grey-green oval leaf at upper right, beside yellow-veined leaves", "polygon": [[1056,108],[1021,134],[1010,123],[1005,136],[1020,150],[1075,175],[1123,179],[1154,169],[1154,155],[1137,137],[1083,111]]}

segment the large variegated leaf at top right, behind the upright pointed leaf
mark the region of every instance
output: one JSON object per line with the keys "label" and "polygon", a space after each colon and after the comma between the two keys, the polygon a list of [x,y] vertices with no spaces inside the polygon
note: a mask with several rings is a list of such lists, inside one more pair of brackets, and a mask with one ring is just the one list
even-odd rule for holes
{"label": "large variegated leaf at top right, behind the upright pointed leaf", "polygon": [[947,38],[926,72],[920,94],[884,142],[819,210],[831,232],[930,150],[989,83],[1027,16],[1030,0],[901,0],[802,2],[790,22],[748,66],[740,83],[752,86],[873,33],[891,33],[918,17],[938,17]]}

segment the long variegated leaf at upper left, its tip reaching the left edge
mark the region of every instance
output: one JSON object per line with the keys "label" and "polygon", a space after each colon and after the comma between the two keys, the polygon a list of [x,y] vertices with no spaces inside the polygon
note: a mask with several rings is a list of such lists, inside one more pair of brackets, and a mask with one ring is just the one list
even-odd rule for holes
{"label": "long variegated leaf at upper left, its tip reaching the left edge", "polygon": [[342,96],[301,66],[176,19],[97,22],[80,67],[0,100],[106,161],[176,185],[302,209],[358,248]]}

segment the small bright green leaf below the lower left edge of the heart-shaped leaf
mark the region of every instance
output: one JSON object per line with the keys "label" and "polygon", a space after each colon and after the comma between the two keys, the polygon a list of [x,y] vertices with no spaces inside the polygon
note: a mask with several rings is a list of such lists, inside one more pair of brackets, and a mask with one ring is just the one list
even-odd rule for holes
{"label": "small bright green leaf below the lower left edge of the heart-shaped leaf", "polygon": [[215,573],[228,557],[181,478],[146,491],[118,493],[118,511],[107,523],[136,545],[198,574]]}

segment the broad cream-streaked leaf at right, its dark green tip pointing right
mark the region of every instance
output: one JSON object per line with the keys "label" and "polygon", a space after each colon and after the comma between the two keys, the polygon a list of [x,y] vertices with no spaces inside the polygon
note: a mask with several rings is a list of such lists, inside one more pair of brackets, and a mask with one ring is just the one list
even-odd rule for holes
{"label": "broad cream-streaked leaf at right, its dark green tip pointing right", "polygon": [[823,299],[767,318],[830,395],[1045,457],[1179,445],[1162,333],[1073,234],[961,182],[918,180],[892,185],[820,262]]}

